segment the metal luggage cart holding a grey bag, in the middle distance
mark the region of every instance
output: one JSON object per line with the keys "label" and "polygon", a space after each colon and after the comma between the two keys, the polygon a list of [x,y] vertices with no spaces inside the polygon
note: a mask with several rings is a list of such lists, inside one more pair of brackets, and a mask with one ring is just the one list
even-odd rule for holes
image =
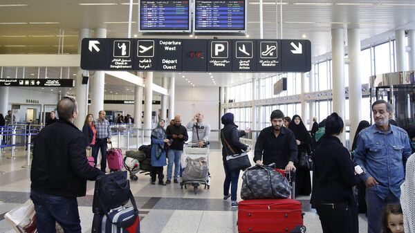
{"label": "metal luggage cart holding a grey bag, in the middle distance", "polygon": [[196,143],[189,143],[185,145],[181,159],[181,175],[187,166],[187,158],[196,159],[201,157],[205,158],[205,161],[208,163],[208,174],[206,174],[205,178],[195,178],[190,180],[183,180],[183,177],[181,176],[181,189],[183,189],[183,187],[187,189],[187,185],[192,185],[194,194],[196,194],[196,190],[200,185],[205,185],[204,189],[206,189],[206,187],[210,189],[209,153],[209,145],[205,145],[204,147],[199,147],[199,145]]}

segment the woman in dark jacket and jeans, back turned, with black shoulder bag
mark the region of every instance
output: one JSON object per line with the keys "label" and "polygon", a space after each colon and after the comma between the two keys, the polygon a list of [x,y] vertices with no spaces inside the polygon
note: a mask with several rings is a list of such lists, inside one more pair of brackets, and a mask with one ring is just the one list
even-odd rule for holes
{"label": "woman in dark jacket and jeans, back turned, with black shoulder bag", "polygon": [[[238,207],[237,203],[237,191],[238,191],[238,179],[239,170],[230,171],[228,163],[226,162],[226,156],[232,154],[228,149],[228,144],[232,147],[234,153],[242,153],[243,151],[250,151],[248,145],[239,142],[239,138],[245,135],[245,131],[238,131],[238,126],[234,123],[234,115],[232,113],[225,113],[222,116],[221,122],[223,129],[221,129],[221,141],[222,141],[222,160],[223,168],[225,169],[225,180],[223,181],[223,200],[230,198],[231,207]],[[230,188],[230,194],[229,194]]]}

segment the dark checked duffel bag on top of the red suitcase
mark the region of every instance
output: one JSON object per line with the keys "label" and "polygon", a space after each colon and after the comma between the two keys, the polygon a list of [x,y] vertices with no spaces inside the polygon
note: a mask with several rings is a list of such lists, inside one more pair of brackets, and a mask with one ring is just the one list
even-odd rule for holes
{"label": "dark checked duffel bag on top of the red suitcase", "polygon": [[288,198],[291,195],[288,180],[273,166],[250,167],[243,172],[242,180],[243,200]]}

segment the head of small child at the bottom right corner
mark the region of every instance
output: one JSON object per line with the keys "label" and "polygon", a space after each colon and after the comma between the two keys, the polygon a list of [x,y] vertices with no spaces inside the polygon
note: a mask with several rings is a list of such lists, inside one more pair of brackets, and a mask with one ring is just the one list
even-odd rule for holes
{"label": "head of small child at the bottom right corner", "polygon": [[382,233],[403,233],[403,214],[399,204],[385,206],[382,217]]}

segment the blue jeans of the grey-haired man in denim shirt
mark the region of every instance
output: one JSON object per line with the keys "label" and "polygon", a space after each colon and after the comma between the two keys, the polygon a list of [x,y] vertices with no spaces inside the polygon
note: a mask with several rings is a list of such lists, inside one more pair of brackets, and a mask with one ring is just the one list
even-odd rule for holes
{"label": "blue jeans of the grey-haired man in denim shirt", "polygon": [[367,232],[378,233],[382,231],[382,214],[385,205],[398,204],[399,198],[391,192],[387,194],[385,200],[376,194],[374,188],[366,187],[366,204],[367,204]]}

